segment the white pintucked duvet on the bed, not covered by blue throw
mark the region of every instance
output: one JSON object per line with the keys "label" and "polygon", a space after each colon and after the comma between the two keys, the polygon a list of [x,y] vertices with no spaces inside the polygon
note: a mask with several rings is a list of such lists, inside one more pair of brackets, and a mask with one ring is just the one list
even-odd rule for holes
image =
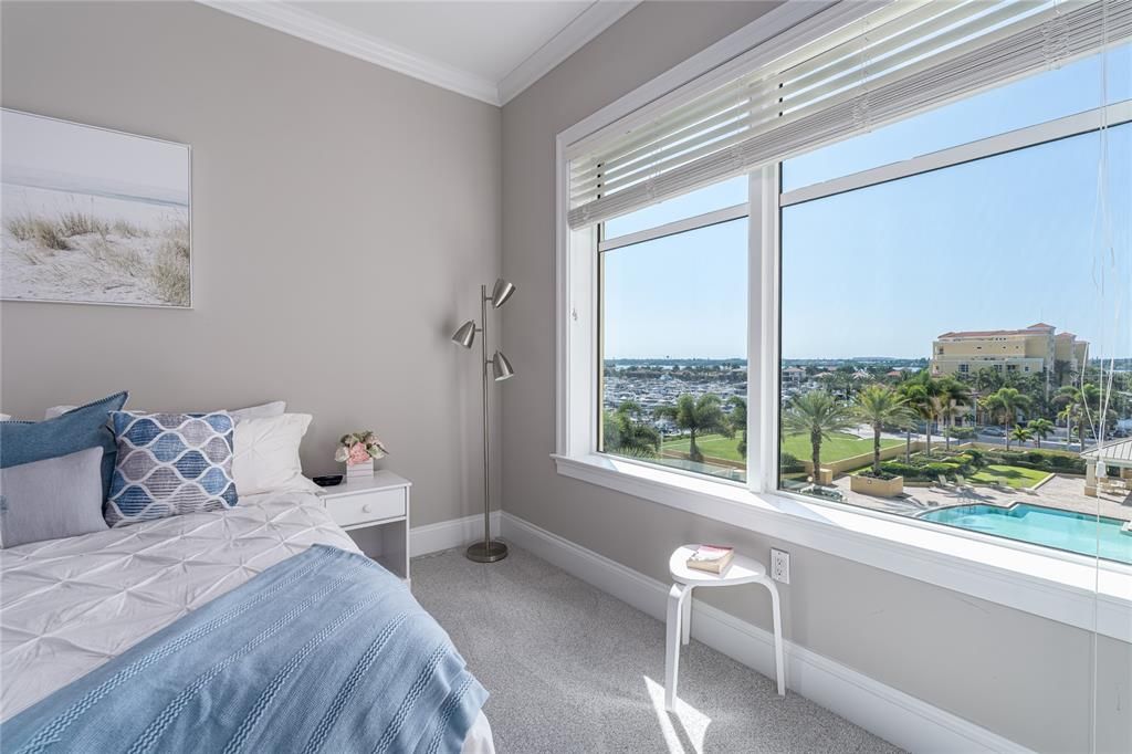
{"label": "white pintucked duvet on the bed, not covered by blue throw", "polygon": [[[0,550],[0,721],[317,545],[359,552],[315,495],[278,492]],[[462,752],[494,751],[480,712]]]}

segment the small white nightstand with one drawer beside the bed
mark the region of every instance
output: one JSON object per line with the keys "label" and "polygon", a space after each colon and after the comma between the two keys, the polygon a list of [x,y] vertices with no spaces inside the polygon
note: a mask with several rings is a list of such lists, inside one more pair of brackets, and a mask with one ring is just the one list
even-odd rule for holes
{"label": "small white nightstand with one drawer beside the bed", "polygon": [[409,488],[392,471],[324,487],[323,505],[362,552],[409,581]]}

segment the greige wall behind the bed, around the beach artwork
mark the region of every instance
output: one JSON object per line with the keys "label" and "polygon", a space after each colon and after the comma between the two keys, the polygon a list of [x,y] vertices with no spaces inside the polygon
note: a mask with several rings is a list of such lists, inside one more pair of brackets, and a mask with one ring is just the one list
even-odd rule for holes
{"label": "greige wall behind the bed, around the beach artwork", "polygon": [[286,399],[308,471],[368,427],[414,524],[475,513],[478,359],[448,337],[498,273],[499,110],[195,3],[2,14],[5,106],[192,145],[195,267],[191,311],[3,303],[2,410]]}

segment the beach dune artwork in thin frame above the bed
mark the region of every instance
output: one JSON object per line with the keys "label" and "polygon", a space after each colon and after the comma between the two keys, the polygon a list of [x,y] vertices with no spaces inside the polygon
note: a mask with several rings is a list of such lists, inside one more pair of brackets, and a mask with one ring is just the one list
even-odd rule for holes
{"label": "beach dune artwork in thin frame above the bed", "polygon": [[0,119],[0,298],[192,306],[188,145]]}

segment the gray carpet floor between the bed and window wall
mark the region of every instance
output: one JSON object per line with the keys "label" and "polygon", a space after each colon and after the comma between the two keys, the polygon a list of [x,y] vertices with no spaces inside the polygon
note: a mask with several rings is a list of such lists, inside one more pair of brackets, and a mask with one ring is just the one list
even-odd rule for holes
{"label": "gray carpet floor between the bed and window wall", "polygon": [[899,751],[695,640],[666,713],[664,625],[524,550],[412,568],[417,599],[491,693],[499,754]]}

